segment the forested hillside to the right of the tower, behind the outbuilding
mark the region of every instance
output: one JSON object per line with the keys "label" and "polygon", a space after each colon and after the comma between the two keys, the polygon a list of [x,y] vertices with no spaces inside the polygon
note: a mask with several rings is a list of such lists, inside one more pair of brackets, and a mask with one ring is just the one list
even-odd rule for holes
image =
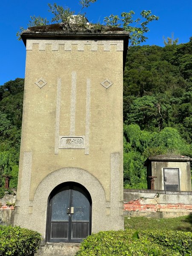
{"label": "forested hillside to the right of the tower, behind the outbuilding", "polygon": [[131,47],[124,72],[124,185],[146,188],[146,158],[192,156],[192,38]]}

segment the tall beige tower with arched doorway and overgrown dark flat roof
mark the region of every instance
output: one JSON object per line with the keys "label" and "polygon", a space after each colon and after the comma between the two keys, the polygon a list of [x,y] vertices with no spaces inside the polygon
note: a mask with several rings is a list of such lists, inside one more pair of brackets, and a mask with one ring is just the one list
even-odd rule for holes
{"label": "tall beige tower with arched doorway and overgrown dark flat roof", "polygon": [[123,67],[128,32],[32,27],[15,225],[47,242],[124,228]]}

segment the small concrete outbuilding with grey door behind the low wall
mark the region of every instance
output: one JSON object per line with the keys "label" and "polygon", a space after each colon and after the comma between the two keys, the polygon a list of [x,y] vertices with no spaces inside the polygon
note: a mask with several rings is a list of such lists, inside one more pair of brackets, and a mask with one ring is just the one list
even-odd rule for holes
{"label": "small concrete outbuilding with grey door behind the low wall", "polygon": [[191,191],[190,157],[165,154],[148,157],[147,166],[148,189],[166,191]]}

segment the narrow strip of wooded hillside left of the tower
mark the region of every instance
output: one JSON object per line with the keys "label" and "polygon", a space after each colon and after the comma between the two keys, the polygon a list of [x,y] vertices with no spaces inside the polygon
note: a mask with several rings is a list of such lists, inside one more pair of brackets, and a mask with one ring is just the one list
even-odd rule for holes
{"label": "narrow strip of wooded hillside left of the tower", "polygon": [[11,187],[17,187],[20,134],[23,111],[24,79],[0,86],[0,186],[2,175],[11,175]]}

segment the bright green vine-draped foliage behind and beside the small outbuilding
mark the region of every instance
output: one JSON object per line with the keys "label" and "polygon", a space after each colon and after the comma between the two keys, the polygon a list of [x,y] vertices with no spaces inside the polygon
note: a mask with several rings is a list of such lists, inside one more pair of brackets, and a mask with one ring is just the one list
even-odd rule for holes
{"label": "bright green vine-draped foliage behind and beside the small outbuilding", "polygon": [[186,143],[179,131],[171,127],[160,132],[151,132],[142,131],[137,124],[124,125],[125,188],[147,188],[147,170],[144,163],[147,157],[157,154],[192,156],[192,146]]}

